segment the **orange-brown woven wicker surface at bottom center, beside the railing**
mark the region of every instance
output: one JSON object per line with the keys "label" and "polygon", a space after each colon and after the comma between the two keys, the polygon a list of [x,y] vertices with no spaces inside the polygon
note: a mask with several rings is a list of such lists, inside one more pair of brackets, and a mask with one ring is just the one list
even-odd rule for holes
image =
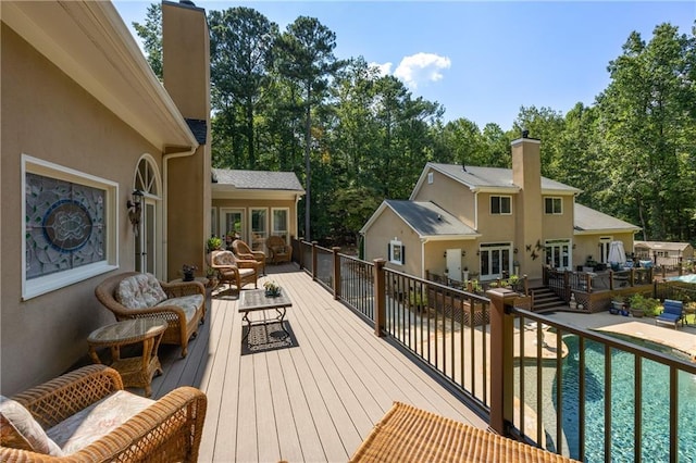
{"label": "orange-brown woven wicker surface at bottom center, beside the railing", "polygon": [[400,402],[377,423],[351,462],[572,462],[485,429]]}

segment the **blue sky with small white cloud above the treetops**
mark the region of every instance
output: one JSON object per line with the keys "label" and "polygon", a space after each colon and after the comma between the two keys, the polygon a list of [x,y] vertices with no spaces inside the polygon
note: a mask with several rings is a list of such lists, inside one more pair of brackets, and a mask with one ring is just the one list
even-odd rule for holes
{"label": "blue sky with small white cloud above the treetops", "polygon": [[[592,104],[631,32],[645,41],[669,22],[689,34],[696,1],[244,1],[194,0],[207,10],[253,8],[281,30],[306,15],[336,33],[338,58],[362,55],[437,101],[445,120],[512,127],[520,107],[561,113]],[[130,27],[152,1],[114,1]],[[135,35],[135,33],[134,33]]]}

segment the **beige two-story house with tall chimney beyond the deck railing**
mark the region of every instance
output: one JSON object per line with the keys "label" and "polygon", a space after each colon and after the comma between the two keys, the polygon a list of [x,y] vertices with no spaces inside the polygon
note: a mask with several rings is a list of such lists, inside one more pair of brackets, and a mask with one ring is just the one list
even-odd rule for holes
{"label": "beige two-story house with tall chimney beyond the deck railing", "polygon": [[427,163],[409,200],[385,200],[362,227],[364,258],[421,277],[488,280],[607,262],[611,241],[633,249],[638,227],[576,203],[577,188],[542,176],[539,146],[514,140],[511,170]]}

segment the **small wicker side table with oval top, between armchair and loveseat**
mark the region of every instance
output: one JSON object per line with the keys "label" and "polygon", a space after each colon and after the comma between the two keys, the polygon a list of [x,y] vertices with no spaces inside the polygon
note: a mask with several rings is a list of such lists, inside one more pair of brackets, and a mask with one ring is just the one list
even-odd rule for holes
{"label": "small wicker side table with oval top, between armchair and loveseat", "polygon": [[[87,338],[89,355],[95,363],[101,363],[98,348],[111,349],[111,367],[121,374],[125,387],[141,387],[150,397],[150,384],[156,373],[162,373],[157,350],[166,329],[166,322],[160,318],[125,320],[94,330]],[[140,356],[121,358],[121,348],[142,342]]]}

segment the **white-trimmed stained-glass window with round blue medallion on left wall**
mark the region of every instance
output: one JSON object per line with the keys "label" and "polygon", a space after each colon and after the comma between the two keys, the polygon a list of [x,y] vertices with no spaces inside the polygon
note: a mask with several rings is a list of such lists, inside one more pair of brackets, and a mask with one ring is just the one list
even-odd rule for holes
{"label": "white-trimmed stained-glass window with round blue medallion on left wall", "polygon": [[116,183],[22,155],[22,298],[117,267]]}

